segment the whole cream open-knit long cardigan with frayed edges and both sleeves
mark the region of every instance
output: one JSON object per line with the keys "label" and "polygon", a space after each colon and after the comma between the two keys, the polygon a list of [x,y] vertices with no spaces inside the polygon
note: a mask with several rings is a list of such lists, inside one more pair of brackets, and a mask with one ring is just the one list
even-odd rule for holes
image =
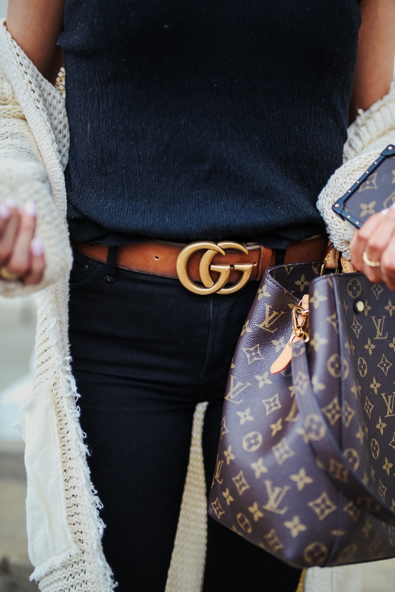
{"label": "whole cream open-knit long cardigan with frayed edges and both sleeves", "polygon": [[[28,550],[40,590],[110,592],[112,574],[101,547],[101,507],[86,464],[78,394],[70,372],[68,274],[63,170],[69,131],[64,86],[37,71],[0,22],[0,201],[37,204],[37,236],[46,271],[38,287],[0,281],[7,297],[39,290],[34,390],[25,401]],[[395,143],[395,91],[361,113],[349,130],[345,165],[320,194],[318,205],[335,246],[349,257],[351,227],[330,209],[386,144]],[[206,506],[201,431],[206,403],[195,411],[190,463],[165,592],[200,592],[205,561]],[[155,566],[153,566],[155,569]],[[351,571],[350,571],[351,570]],[[359,592],[358,567],[313,568],[306,592]],[[264,574],[262,574],[264,577]],[[136,591],[141,592],[141,591]],[[245,591],[249,592],[249,591]]]}

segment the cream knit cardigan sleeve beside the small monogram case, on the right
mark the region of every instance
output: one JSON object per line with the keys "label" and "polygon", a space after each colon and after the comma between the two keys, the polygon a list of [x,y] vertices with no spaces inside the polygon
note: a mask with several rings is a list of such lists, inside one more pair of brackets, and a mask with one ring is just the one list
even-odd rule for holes
{"label": "cream knit cardigan sleeve beside the small monogram case, on the right", "polygon": [[367,111],[359,111],[357,120],[348,129],[343,151],[344,164],[333,173],[317,201],[329,238],[346,259],[351,259],[349,245],[354,226],[336,214],[332,205],[354,185],[388,144],[395,144],[394,82],[388,95]]}

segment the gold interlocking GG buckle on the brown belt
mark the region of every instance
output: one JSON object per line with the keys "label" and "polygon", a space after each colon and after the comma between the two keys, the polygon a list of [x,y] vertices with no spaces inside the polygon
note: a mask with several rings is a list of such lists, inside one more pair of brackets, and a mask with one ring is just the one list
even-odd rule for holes
{"label": "gold interlocking GG buckle on the brown belt", "polygon": [[[200,260],[199,274],[205,288],[192,281],[187,270],[188,260],[191,255],[203,249],[205,249],[205,253]],[[229,288],[224,288],[224,285],[229,279],[230,265],[211,265],[214,255],[217,253],[226,255],[224,249],[237,249],[248,255],[248,250],[242,244],[233,241],[225,240],[220,243],[213,243],[210,240],[199,240],[195,243],[187,244],[179,253],[176,263],[178,279],[184,288],[187,288],[190,292],[194,292],[194,294],[208,295],[233,294],[245,286],[251,276],[252,263],[235,263],[233,269],[242,272],[242,276],[236,284],[233,284]],[[211,278],[210,271],[217,271],[220,274],[216,282]]]}

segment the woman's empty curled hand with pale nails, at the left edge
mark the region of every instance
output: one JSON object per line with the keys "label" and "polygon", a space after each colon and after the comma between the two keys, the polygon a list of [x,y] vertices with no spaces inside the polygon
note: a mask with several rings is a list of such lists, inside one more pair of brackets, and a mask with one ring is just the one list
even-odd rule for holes
{"label": "woman's empty curled hand with pale nails, at the left edge", "polygon": [[12,200],[0,205],[0,279],[34,285],[43,278],[43,245],[34,238],[36,213],[33,201],[21,213]]}

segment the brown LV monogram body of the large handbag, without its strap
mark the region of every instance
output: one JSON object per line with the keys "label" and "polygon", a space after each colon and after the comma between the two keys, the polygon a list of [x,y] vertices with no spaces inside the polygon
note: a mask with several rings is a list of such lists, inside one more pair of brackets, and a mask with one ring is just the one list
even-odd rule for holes
{"label": "brown LV monogram body of the large handbag, without its strap", "polygon": [[[395,295],[319,270],[265,273],[230,369],[209,499],[211,516],[300,568],[395,556]],[[307,291],[309,369],[272,375]],[[311,390],[318,413],[303,415]],[[342,456],[314,452],[327,435]],[[343,492],[350,472],[366,496]],[[374,497],[393,519],[374,516]]]}

